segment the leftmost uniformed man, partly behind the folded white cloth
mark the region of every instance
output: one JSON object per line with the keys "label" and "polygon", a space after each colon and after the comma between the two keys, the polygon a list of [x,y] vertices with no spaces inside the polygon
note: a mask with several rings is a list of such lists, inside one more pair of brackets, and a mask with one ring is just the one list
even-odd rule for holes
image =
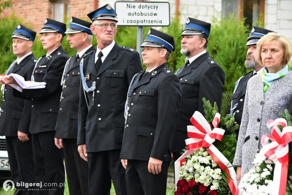
{"label": "leftmost uniformed man, partly behind the folded white cloth", "polygon": [[[14,73],[30,80],[36,58],[32,54],[32,44],[36,32],[18,24],[12,34],[13,53],[17,59],[10,65],[6,75]],[[4,84],[0,76],[0,84]],[[30,115],[23,112],[25,101],[13,96],[13,88],[2,85],[3,101],[0,117],[0,135],[6,136],[6,147],[12,181],[15,184],[14,194],[34,194],[34,191],[23,191],[16,182],[35,183],[32,139],[29,133]],[[28,104],[30,102],[27,102]],[[21,121],[21,123],[20,123]],[[21,124],[21,125],[20,125]]]}

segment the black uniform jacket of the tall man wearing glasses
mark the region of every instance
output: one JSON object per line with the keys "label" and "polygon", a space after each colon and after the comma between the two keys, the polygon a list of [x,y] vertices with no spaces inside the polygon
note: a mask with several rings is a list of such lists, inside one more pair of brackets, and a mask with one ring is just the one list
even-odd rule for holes
{"label": "black uniform jacket of the tall man wearing glasses", "polygon": [[95,53],[96,49],[83,58],[85,68],[81,76],[86,77],[89,88],[95,81],[96,88],[85,92],[87,107],[80,85],[77,144],[86,144],[87,152],[121,149],[128,87],[133,76],[142,70],[140,55],[115,43],[97,72]]}

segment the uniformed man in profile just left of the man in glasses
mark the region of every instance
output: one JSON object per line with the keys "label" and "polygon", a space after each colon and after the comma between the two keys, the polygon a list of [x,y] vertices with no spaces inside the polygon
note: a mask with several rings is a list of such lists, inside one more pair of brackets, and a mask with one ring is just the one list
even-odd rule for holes
{"label": "uniformed man in profile just left of the man in glasses", "polygon": [[78,152],[77,123],[81,80],[80,58],[95,49],[91,44],[90,26],[91,22],[72,17],[65,32],[68,34],[67,41],[69,41],[70,47],[76,49],[77,54],[67,61],[62,76],[63,90],[55,128],[55,145],[59,149],[63,148],[64,151],[67,181],[71,195],[88,194],[88,164],[81,159]]}

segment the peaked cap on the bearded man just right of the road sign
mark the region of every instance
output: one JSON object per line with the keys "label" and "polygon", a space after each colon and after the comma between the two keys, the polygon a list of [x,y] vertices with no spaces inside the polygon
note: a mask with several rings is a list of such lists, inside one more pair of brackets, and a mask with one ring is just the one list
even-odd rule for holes
{"label": "peaked cap on the bearded man just right of the road sign", "polygon": [[187,18],[183,34],[205,34],[209,37],[211,31],[211,24],[194,18]]}

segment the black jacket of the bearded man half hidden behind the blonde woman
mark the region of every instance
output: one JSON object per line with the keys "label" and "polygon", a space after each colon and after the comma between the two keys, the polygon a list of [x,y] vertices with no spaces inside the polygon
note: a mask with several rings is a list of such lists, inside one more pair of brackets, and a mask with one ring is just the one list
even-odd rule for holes
{"label": "black jacket of the bearded man half hidden behind the blonde woman", "polygon": [[[253,71],[248,72],[244,76],[242,76],[237,84],[237,87],[231,97],[231,105],[230,109],[234,107],[235,104],[237,104],[237,107],[234,109],[233,114],[234,114],[234,124],[239,124],[241,123],[241,117],[242,117],[242,112],[243,112],[243,105],[244,105],[244,100],[245,100],[245,92],[246,92],[246,86],[247,86],[247,81],[253,76]],[[230,112],[227,112],[226,115],[229,115]],[[237,130],[237,135],[239,132],[239,128]]]}

